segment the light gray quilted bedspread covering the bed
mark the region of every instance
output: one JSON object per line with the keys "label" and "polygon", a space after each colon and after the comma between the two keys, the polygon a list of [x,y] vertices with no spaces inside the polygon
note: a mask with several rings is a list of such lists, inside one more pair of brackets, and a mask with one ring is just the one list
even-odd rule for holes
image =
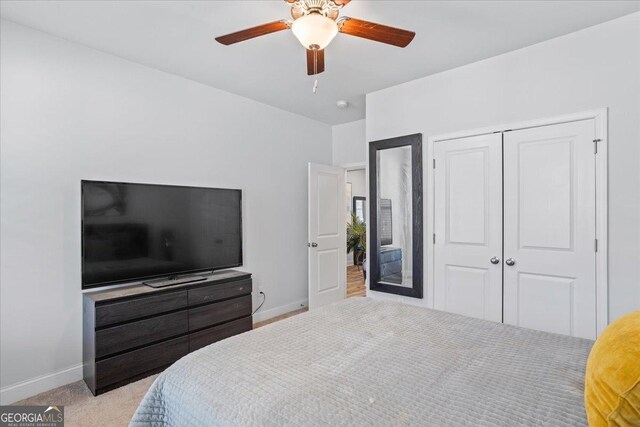
{"label": "light gray quilted bedspread covering the bed", "polygon": [[131,425],[586,425],[592,344],[352,298],[185,356]]}

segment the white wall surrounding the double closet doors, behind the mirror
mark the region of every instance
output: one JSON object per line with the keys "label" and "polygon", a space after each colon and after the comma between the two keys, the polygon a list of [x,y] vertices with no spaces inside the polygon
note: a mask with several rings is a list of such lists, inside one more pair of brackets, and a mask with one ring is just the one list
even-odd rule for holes
{"label": "white wall surrounding the double closet doors, behind the mirror", "polygon": [[366,140],[421,132],[426,142],[601,107],[609,108],[613,320],[640,307],[640,13],[369,94]]}

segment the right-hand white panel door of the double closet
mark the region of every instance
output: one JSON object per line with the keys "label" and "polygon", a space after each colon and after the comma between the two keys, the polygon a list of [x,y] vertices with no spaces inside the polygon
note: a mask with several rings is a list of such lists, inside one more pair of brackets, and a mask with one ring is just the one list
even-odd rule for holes
{"label": "right-hand white panel door of the double closet", "polygon": [[504,134],[505,323],[596,338],[594,137],[592,120]]}

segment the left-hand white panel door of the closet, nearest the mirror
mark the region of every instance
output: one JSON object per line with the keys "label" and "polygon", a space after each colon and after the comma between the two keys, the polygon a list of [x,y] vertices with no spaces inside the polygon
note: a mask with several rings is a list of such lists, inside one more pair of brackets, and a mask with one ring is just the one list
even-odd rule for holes
{"label": "left-hand white panel door of the closet, nearest the mirror", "polygon": [[502,321],[502,135],[435,144],[434,306]]}

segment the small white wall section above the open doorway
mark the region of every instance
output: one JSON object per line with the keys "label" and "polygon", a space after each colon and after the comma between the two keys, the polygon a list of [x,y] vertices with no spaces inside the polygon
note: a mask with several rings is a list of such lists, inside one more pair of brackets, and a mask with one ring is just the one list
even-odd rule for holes
{"label": "small white wall section above the open doorway", "polygon": [[334,166],[348,166],[367,161],[365,123],[365,120],[357,120],[332,127]]}

